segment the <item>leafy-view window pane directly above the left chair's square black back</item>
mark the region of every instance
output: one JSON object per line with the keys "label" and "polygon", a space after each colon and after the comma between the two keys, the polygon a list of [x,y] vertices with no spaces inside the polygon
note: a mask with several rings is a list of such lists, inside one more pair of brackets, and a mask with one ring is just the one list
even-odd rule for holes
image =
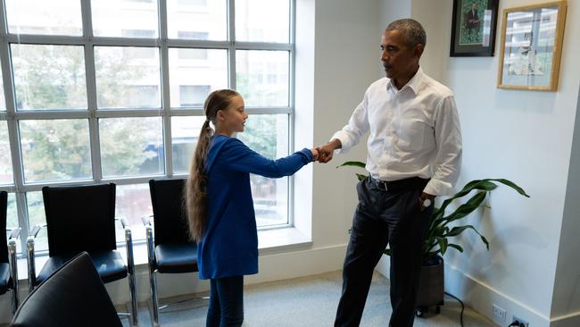
{"label": "leafy-view window pane directly above the left chair's square black back", "polygon": [[88,121],[21,121],[26,182],[91,179]]}

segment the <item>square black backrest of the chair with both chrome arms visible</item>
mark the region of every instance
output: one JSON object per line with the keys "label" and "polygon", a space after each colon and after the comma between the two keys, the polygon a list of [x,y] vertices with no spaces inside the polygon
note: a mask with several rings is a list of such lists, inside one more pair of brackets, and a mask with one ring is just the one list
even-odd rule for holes
{"label": "square black backrest of the chair with both chrome arms visible", "polygon": [[42,188],[48,256],[110,251],[115,241],[115,184]]}

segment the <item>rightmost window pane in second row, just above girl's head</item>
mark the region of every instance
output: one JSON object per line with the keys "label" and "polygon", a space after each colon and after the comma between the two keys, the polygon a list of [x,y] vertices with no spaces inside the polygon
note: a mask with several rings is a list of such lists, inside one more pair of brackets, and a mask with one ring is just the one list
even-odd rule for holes
{"label": "rightmost window pane in second row, just above girl's head", "polygon": [[236,51],[236,86],[246,106],[287,106],[289,53]]}

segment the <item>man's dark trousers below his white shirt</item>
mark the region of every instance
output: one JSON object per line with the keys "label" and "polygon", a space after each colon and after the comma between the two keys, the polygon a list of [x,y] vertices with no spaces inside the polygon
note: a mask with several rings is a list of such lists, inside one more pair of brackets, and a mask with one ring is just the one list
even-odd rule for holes
{"label": "man's dark trousers below his white shirt", "polygon": [[421,211],[418,198],[427,180],[410,188],[385,191],[367,178],[357,185],[359,205],[352,219],[351,238],[343,268],[343,294],[335,326],[359,326],[370,281],[387,243],[391,256],[392,327],[412,326],[425,231],[433,205]]}

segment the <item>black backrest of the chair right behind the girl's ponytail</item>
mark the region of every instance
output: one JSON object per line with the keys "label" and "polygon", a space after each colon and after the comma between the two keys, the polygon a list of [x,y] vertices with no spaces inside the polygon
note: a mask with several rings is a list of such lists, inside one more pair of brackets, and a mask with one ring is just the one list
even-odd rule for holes
{"label": "black backrest of the chair right behind the girl's ponytail", "polygon": [[189,239],[187,215],[183,205],[186,180],[149,180],[153,205],[155,246],[193,243]]}

